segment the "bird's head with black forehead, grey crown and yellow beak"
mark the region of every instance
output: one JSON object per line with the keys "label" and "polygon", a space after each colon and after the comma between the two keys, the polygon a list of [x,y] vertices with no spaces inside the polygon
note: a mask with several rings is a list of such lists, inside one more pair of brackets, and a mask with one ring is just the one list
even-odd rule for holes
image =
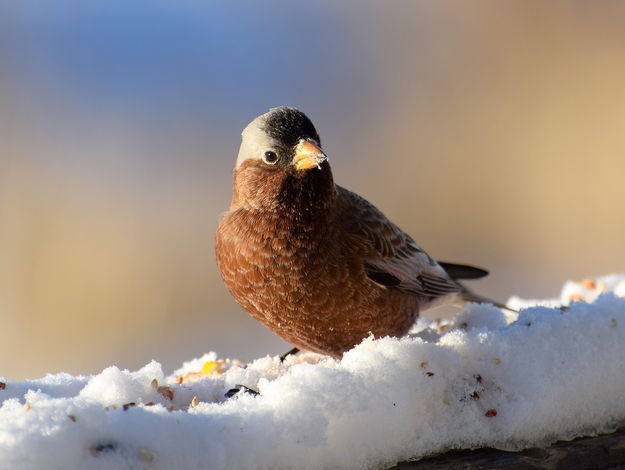
{"label": "bird's head with black forehead, grey crown and yellow beak", "polygon": [[234,169],[233,208],[308,206],[333,193],[328,157],[310,119],[281,106],[258,116],[243,130]]}

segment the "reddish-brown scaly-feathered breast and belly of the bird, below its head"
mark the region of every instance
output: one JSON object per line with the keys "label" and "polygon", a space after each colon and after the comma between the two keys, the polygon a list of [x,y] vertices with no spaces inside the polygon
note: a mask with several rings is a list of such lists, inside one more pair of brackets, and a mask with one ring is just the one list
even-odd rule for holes
{"label": "reddish-brown scaly-feathered breast and belly of the bird, below its head", "polygon": [[403,232],[377,213],[368,220],[361,201],[336,188],[333,203],[310,223],[284,206],[235,207],[222,217],[215,243],[221,275],[246,311],[294,346],[332,356],[370,333],[405,334],[419,305],[364,269],[368,259],[392,256]]}

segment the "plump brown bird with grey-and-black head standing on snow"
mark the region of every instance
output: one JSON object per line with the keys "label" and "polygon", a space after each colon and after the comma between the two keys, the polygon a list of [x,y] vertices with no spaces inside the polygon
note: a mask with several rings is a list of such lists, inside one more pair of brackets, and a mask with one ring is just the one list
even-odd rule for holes
{"label": "plump brown bird with grey-and-black head standing on snow", "polygon": [[373,336],[402,337],[419,313],[491,302],[462,279],[484,269],[438,262],[379,209],[335,184],[312,121],[281,106],[241,134],[230,208],[215,235],[234,299],[292,346],[342,357]]}

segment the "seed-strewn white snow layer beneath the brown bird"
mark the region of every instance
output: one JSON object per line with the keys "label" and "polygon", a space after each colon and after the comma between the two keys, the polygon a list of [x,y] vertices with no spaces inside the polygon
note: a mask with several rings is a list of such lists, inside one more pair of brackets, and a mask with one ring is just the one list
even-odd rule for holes
{"label": "seed-strewn white snow layer beneath the brown bird", "polygon": [[0,379],[0,468],[375,469],[609,432],[625,420],[624,296],[625,275],[568,282],[511,299],[518,315],[471,305],[341,361],[209,353],[170,376],[153,361]]}

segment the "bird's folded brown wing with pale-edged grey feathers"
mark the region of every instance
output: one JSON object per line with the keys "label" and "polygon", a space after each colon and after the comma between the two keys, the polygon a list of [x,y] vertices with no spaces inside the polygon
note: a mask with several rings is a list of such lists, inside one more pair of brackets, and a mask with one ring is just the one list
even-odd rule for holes
{"label": "bird's folded brown wing with pale-edged grey feathers", "polygon": [[338,187],[342,223],[352,243],[365,245],[364,270],[374,282],[424,298],[459,293],[463,287],[412,238],[371,203]]}

